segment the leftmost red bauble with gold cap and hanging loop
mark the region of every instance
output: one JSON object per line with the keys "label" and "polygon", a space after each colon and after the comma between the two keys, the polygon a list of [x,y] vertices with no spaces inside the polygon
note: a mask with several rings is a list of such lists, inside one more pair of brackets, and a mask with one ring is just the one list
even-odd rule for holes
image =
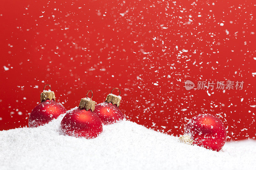
{"label": "leftmost red bauble with gold cap and hanging loop", "polygon": [[[46,84],[45,86],[50,86]],[[45,88],[44,86],[44,88]],[[28,127],[34,128],[46,123],[51,120],[58,118],[61,114],[67,112],[64,106],[55,102],[55,94],[53,91],[44,90],[40,95],[41,103],[38,104],[30,113],[28,119]]]}

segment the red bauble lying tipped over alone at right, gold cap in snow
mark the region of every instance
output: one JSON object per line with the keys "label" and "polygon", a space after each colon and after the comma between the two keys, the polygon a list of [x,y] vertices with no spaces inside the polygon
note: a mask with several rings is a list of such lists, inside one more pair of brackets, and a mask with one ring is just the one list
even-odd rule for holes
{"label": "red bauble lying tipped over alone at right, gold cap in snow", "polygon": [[226,142],[227,132],[222,121],[211,115],[193,117],[180,137],[182,142],[196,144],[213,151],[220,151]]}

